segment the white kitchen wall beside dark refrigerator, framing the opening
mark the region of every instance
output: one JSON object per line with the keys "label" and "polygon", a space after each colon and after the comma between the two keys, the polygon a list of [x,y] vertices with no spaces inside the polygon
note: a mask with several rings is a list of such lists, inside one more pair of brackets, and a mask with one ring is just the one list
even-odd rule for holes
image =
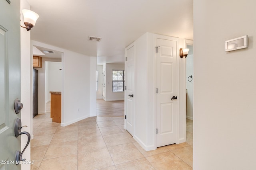
{"label": "white kitchen wall beside dark refrigerator, framing the opening", "polygon": [[[33,43],[34,41],[32,41]],[[46,113],[45,103],[48,102],[48,93],[49,93],[49,86],[48,86],[48,78],[49,76],[49,64],[47,62],[61,62],[61,59],[52,59],[42,57],[42,68],[34,67],[38,70],[38,114]],[[46,93],[46,91],[48,91]]]}

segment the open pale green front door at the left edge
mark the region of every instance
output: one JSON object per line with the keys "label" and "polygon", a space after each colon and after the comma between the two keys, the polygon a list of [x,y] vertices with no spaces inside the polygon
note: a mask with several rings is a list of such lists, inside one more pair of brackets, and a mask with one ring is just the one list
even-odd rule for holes
{"label": "open pale green front door at the left edge", "polygon": [[14,111],[20,99],[20,0],[9,2],[0,0],[0,170],[21,169],[15,162],[20,137],[14,135],[20,118]]}

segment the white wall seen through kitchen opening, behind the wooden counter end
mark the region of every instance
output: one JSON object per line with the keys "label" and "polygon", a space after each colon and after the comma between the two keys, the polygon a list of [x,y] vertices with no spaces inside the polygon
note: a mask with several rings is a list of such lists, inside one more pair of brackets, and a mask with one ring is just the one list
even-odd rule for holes
{"label": "white wall seen through kitchen opening, behind the wooden counter end", "polygon": [[45,103],[51,100],[50,91],[61,91],[62,63],[45,62]]}

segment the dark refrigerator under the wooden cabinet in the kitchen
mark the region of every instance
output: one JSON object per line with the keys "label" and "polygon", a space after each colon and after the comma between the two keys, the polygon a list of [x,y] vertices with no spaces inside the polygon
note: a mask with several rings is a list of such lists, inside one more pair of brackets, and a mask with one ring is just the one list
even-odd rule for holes
{"label": "dark refrigerator under the wooden cabinet in the kitchen", "polygon": [[33,118],[38,114],[38,70],[33,69]]}

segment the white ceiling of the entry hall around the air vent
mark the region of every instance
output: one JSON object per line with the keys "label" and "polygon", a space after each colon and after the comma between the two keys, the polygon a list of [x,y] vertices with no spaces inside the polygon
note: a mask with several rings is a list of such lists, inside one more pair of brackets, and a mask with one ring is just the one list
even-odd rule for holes
{"label": "white ceiling of the entry hall around the air vent", "polygon": [[[40,17],[31,39],[123,63],[124,48],[146,32],[193,39],[193,0],[28,0]],[[88,36],[102,37],[100,42]]]}

